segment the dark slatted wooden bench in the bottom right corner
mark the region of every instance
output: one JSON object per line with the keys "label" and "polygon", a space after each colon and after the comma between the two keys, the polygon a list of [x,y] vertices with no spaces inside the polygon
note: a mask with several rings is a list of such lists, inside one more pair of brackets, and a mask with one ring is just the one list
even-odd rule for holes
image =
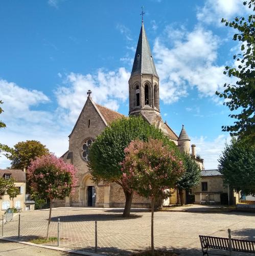
{"label": "dark slatted wooden bench in the bottom right corner", "polygon": [[228,229],[228,238],[199,236],[203,255],[208,254],[208,248],[227,250],[229,255],[232,251],[255,253],[255,241],[233,239],[231,238],[230,229]]}

